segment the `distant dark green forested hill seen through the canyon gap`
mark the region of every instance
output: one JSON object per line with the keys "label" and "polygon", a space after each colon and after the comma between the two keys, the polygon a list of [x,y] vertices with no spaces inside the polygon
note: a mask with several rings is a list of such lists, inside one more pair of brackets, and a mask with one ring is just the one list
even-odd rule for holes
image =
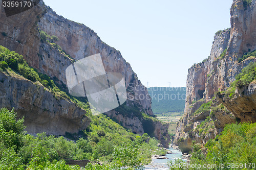
{"label": "distant dark green forested hill seen through the canyon gap", "polygon": [[155,114],[184,111],[186,87],[150,87],[147,90]]}

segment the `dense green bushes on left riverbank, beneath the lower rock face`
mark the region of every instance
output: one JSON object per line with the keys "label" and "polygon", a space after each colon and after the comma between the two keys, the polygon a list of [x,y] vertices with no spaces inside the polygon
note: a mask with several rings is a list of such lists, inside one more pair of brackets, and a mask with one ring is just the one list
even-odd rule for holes
{"label": "dense green bushes on left riverbank, beneath the lower rock face", "polygon": [[[0,169],[80,169],[66,165],[65,161],[69,159],[108,163],[100,166],[102,168],[127,166],[135,169],[149,163],[154,152],[166,154],[157,151],[156,139],[147,134],[140,136],[128,132],[104,115],[92,117],[84,138],[75,142],[64,137],[47,136],[46,133],[36,137],[28,135],[23,122],[24,119],[16,120],[14,110],[0,110]],[[95,168],[98,165],[88,166]]]}

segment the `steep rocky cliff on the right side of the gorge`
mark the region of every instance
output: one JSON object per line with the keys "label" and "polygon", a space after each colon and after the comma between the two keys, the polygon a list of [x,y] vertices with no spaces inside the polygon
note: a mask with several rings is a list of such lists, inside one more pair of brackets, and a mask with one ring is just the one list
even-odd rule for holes
{"label": "steep rocky cliff on the right side of the gorge", "polygon": [[[221,134],[224,126],[234,122],[255,122],[255,84],[237,89],[235,98],[223,99],[215,92],[225,91],[242,68],[254,57],[238,62],[256,49],[255,1],[233,0],[230,8],[231,28],[218,31],[210,56],[188,69],[186,105],[177,125],[174,144],[182,152],[191,151],[192,141],[205,144]],[[243,92],[243,93],[242,93]]]}

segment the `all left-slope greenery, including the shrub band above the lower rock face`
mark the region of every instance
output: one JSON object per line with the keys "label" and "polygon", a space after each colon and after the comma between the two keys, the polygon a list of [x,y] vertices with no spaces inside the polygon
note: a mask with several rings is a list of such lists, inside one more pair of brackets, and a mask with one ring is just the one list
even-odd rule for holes
{"label": "all left-slope greenery, including the shrub band above the lower rock face", "polygon": [[[44,86],[45,90],[52,92],[56,100],[71,100],[76,106],[86,110],[91,120],[90,126],[83,132],[65,135],[74,141],[69,141],[65,137],[47,136],[46,133],[37,134],[34,137],[26,134],[24,120],[16,121],[13,110],[9,112],[7,109],[2,109],[0,169],[80,169],[78,166],[66,165],[65,162],[69,159],[99,160],[106,163],[105,165],[89,164],[90,167],[87,169],[108,169],[109,167],[120,169],[124,166],[135,169],[149,163],[151,155],[166,153],[157,147],[159,141],[151,138],[147,133],[142,136],[137,135],[131,130],[125,130],[105,115],[93,116],[85,99],[68,95],[67,87],[56,83],[56,78],[51,79],[41,74],[30,67],[23,56],[10,52],[3,46],[0,46],[0,71],[12,77],[31,80],[37,86]],[[143,124],[148,126],[158,121],[155,117],[139,112],[136,107],[123,107],[122,112],[132,109],[133,113],[144,119]],[[148,132],[152,133],[150,129],[152,127],[148,127]],[[147,129],[144,129],[144,132],[147,132]],[[121,157],[117,156],[119,154],[123,154],[122,159],[128,157],[132,159],[130,162],[123,162]]]}

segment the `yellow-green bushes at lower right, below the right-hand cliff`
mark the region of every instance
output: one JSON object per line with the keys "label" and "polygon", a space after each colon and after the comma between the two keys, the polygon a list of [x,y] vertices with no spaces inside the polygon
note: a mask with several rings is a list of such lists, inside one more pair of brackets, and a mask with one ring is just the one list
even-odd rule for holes
{"label": "yellow-green bushes at lower right, below the right-hand cliff", "polygon": [[[222,135],[217,136],[214,140],[209,140],[205,147],[207,154],[203,154],[203,150],[196,148],[194,145],[192,164],[220,164],[225,163],[228,169],[228,163],[237,163],[239,168],[249,168],[250,163],[256,162],[256,124],[231,124],[226,125]],[[243,168],[241,167],[241,164]],[[214,169],[214,168],[209,168]],[[254,167],[253,167],[254,169]]]}

